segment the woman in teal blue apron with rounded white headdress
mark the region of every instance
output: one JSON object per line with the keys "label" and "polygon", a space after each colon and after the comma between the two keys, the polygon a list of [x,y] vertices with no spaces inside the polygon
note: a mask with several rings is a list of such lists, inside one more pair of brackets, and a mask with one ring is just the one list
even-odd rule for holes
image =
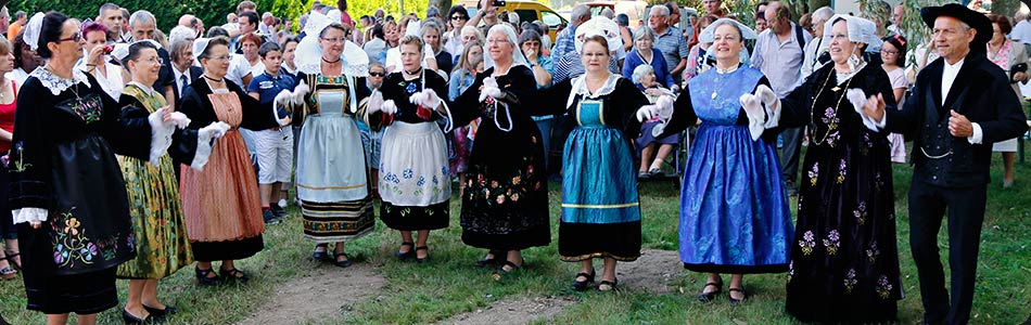
{"label": "woman in teal blue apron with rounded white headdress", "polygon": [[573,289],[595,281],[593,260],[604,266],[598,290],[615,289],[618,261],[640,256],[640,202],[632,139],[640,133],[634,114],[648,100],[634,82],[609,72],[611,52],[623,47],[611,20],[590,20],[576,28],[576,50],[586,73],[552,86],[534,114],[569,114],[577,126],[562,155],[562,218],[559,256],[580,262]]}

